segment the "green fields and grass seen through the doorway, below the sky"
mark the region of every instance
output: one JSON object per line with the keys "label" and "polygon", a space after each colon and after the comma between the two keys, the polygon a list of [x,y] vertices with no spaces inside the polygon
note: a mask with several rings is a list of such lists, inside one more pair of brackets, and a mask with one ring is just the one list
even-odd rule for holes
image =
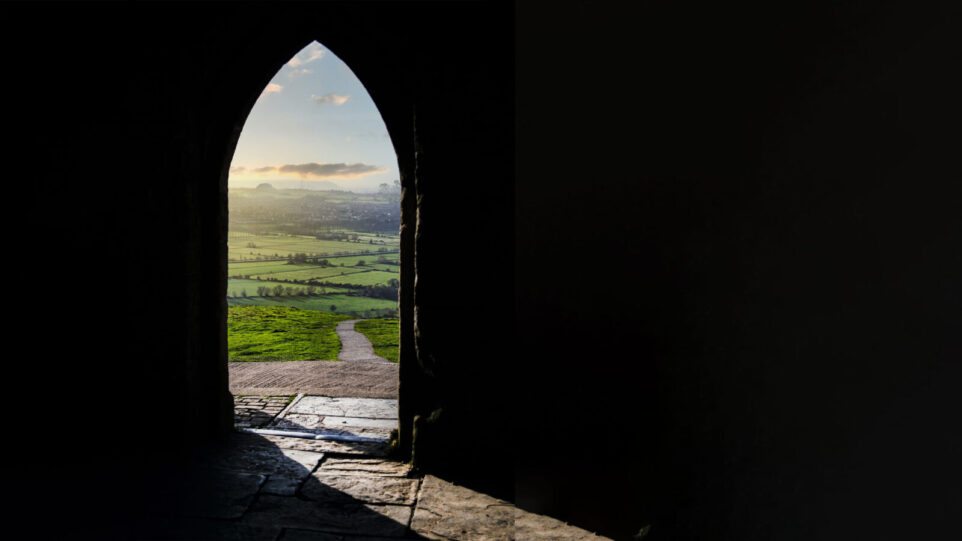
{"label": "green fields and grass seen through the doorway, below the sky", "polygon": [[336,360],[334,326],[346,318],[371,319],[358,330],[397,359],[399,193],[228,195],[230,360]]}

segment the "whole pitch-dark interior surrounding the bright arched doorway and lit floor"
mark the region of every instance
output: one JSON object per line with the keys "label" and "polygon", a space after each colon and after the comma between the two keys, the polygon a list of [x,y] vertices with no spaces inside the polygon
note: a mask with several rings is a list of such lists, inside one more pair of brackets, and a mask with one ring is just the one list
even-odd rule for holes
{"label": "whole pitch-dark interior surrounding the bright arched doorway and lit floor", "polygon": [[7,524],[109,538],[230,431],[227,167],[316,39],[398,154],[422,471],[615,539],[954,538],[962,12],[622,4],[4,4]]}

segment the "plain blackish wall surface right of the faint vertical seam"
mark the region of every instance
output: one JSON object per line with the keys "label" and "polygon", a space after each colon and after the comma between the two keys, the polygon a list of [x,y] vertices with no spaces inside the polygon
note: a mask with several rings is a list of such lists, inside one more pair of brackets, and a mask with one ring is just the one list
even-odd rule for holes
{"label": "plain blackish wall surface right of the faint vertical seam", "polygon": [[954,537],[958,8],[663,4],[518,11],[519,504]]}

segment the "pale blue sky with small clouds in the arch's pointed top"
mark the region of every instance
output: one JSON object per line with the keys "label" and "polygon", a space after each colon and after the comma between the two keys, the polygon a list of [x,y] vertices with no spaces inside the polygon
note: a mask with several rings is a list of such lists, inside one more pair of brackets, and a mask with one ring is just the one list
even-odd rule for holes
{"label": "pale blue sky with small clouds in the arch's pointed top", "polygon": [[374,192],[400,178],[384,120],[347,67],[314,41],[264,88],[241,131],[227,184]]}

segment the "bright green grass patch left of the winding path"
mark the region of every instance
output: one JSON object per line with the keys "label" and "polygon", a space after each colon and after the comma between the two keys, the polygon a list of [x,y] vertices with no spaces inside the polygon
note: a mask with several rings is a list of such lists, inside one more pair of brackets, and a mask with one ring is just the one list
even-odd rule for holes
{"label": "bright green grass patch left of the winding path", "polygon": [[231,306],[227,310],[228,361],[336,361],[334,332],[347,316],[288,306]]}

